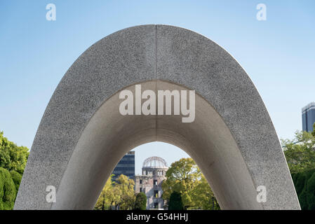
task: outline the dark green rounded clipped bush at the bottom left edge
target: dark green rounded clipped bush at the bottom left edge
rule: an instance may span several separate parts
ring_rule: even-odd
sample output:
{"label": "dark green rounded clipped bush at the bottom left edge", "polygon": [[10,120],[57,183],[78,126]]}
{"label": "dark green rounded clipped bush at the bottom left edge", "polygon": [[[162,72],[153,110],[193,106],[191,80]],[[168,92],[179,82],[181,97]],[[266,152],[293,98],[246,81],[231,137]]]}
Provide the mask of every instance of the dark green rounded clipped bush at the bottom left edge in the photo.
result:
{"label": "dark green rounded clipped bush at the bottom left edge", "polygon": [[15,195],[15,185],[10,172],[0,167],[0,210],[13,209]]}

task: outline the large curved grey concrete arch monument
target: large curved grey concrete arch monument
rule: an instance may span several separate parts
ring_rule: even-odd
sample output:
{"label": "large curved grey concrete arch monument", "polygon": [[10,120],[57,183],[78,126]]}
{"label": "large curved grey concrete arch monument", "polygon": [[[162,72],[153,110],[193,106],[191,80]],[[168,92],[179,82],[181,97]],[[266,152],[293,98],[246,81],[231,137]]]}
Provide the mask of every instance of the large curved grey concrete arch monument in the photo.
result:
{"label": "large curved grey concrete arch monument", "polygon": [[[196,90],[196,119],[121,116],[119,90]],[[165,25],[98,41],[60,81],[39,125],[15,209],[92,209],[130,149],[165,141],[187,151],[222,209],[300,209],[279,139],[246,72],[219,45]],[[58,190],[46,202],[46,186]],[[266,186],[267,202],[256,202]]]}

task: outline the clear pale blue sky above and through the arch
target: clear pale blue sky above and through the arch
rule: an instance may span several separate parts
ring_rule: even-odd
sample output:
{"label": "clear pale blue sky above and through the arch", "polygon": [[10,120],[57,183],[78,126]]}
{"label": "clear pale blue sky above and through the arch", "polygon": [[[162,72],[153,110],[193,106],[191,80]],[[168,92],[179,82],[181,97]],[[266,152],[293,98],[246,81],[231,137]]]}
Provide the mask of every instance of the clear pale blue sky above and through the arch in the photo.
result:
{"label": "clear pale blue sky above and through the arch", "polygon": [[[57,8],[54,22],[46,20],[48,3]],[[266,4],[266,21],[256,20],[257,3]],[[30,148],[43,111],[74,60],[100,38],[145,24],[185,27],[220,44],[252,78],[279,137],[292,138],[302,129],[301,108],[315,101],[313,0],[1,0],[0,130]],[[154,154],[150,148],[162,146],[142,146],[146,153],[138,164]],[[166,159],[178,156],[185,154],[174,149]]]}

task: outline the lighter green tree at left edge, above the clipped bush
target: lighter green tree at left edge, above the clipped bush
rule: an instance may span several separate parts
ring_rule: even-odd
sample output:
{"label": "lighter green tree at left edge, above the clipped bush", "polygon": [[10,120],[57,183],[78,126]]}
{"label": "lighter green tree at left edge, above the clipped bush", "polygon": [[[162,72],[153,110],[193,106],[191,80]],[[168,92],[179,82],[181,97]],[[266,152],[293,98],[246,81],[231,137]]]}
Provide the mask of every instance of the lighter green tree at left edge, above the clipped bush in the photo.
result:
{"label": "lighter green tree at left edge, above the clipped bush", "polygon": [[0,167],[23,174],[28,156],[28,148],[8,141],[4,133],[0,132]]}

